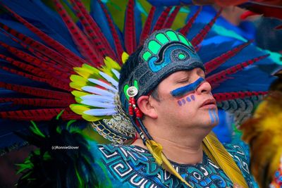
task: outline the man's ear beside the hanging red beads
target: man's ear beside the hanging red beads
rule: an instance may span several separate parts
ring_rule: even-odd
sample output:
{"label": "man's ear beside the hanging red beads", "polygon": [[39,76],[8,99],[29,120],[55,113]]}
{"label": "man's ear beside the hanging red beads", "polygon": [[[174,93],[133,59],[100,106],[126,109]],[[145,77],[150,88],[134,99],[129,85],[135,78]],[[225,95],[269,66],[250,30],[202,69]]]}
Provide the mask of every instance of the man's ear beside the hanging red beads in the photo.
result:
{"label": "man's ear beside the hanging red beads", "polygon": [[156,119],[158,118],[158,114],[154,106],[152,106],[152,101],[149,100],[149,96],[140,96],[137,99],[137,105],[140,111],[150,118]]}

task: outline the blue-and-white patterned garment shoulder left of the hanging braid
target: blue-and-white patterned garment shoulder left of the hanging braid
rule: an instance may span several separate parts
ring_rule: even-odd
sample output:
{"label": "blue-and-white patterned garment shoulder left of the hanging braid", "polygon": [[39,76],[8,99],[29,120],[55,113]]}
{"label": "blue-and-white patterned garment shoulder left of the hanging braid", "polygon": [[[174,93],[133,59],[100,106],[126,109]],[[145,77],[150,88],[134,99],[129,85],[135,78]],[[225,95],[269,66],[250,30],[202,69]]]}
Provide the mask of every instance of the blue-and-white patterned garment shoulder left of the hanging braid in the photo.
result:
{"label": "blue-and-white patterned garment shoulder left of the hanging braid", "polygon": [[161,169],[149,151],[139,146],[98,145],[102,162],[114,180],[130,187],[179,187],[179,182]]}

